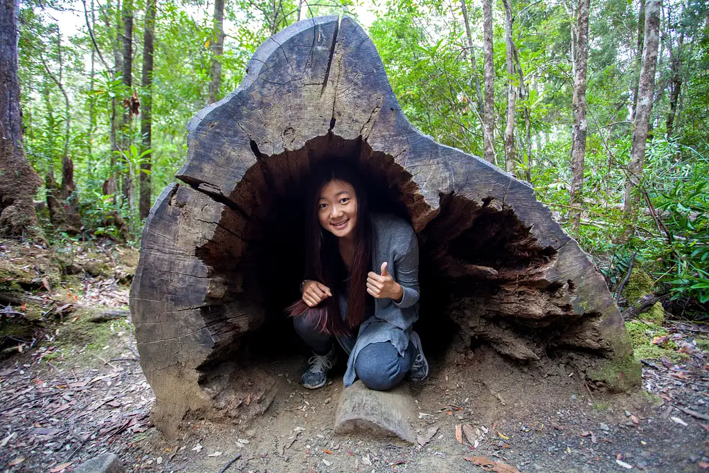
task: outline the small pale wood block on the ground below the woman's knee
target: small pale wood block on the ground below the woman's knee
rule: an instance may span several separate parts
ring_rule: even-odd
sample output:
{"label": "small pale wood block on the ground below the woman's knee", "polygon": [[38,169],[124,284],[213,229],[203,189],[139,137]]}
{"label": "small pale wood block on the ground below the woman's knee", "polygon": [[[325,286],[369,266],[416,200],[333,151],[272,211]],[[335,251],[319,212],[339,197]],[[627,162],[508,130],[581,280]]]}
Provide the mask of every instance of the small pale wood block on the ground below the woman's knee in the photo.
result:
{"label": "small pale wood block on the ground below the woman's knee", "polygon": [[411,428],[415,406],[408,385],[389,391],[374,391],[357,380],[342,390],[335,413],[335,433],[363,430],[381,437],[398,437],[416,443]]}

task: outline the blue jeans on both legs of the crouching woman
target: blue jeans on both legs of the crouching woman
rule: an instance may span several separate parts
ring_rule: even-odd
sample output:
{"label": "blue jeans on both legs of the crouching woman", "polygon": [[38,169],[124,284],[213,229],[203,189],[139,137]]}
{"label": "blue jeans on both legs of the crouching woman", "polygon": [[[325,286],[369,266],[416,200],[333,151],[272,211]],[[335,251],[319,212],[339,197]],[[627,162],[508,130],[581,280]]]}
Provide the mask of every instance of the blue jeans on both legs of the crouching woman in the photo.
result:
{"label": "blue jeans on both legs of the crouching woman", "polygon": [[[306,316],[293,318],[293,326],[303,342],[318,355],[325,355],[333,347],[333,337],[322,333]],[[337,337],[342,349],[350,355],[356,338]],[[354,360],[354,371],[365,386],[376,391],[391,389],[406,376],[416,356],[413,343],[409,343],[403,357],[391,342],[371,343],[362,348]]]}

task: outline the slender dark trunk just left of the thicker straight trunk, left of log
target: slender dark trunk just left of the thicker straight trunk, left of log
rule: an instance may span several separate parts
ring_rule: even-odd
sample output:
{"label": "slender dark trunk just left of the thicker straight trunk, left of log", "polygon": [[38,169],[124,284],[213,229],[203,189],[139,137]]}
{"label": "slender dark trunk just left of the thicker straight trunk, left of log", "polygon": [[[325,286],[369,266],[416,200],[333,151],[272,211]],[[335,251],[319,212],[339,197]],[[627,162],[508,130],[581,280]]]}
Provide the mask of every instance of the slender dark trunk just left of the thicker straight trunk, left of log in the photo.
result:
{"label": "slender dark trunk just left of the thicker straight trunk, left of log", "polygon": [[[121,80],[128,93],[128,96],[123,100],[121,148],[124,155],[127,155],[130,148],[130,135],[132,134],[130,128],[133,121],[133,0],[123,0],[121,17],[123,19],[123,68]],[[130,202],[132,185],[130,172],[124,170],[121,177],[121,194],[123,194],[125,201]]]}

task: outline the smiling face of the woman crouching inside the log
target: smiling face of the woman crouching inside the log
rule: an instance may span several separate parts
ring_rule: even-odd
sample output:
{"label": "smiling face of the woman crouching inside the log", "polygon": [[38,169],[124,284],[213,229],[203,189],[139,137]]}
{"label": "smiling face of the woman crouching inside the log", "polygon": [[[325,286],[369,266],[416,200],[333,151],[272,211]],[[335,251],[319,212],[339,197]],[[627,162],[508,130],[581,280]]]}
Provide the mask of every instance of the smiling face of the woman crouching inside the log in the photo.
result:
{"label": "smiling face of the woman crouching inside the log", "polygon": [[333,179],[320,189],[318,220],[337,238],[352,236],[357,225],[357,195],[352,184]]}

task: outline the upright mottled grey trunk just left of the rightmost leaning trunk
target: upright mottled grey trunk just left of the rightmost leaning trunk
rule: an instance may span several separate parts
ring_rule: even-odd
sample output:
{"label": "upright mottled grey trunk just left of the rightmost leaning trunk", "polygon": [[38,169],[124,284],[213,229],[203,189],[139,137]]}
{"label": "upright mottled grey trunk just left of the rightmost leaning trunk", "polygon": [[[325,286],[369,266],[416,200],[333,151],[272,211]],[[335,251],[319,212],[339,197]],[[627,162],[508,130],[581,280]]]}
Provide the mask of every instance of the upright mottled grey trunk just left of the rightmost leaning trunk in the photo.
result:
{"label": "upright mottled grey trunk just left of the rightmost leaning trunk", "polygon": [[[574,99],[571,111],[574,113],[574,128],[571,130],[571,207],[581,205],[581,191],[584,189],[584,157],[586,155],[586,64],[588,62],[588,9],[590,0],[579,0],[576,12],[576,77],[574,77]],[[571,209],[571,225],[574,233],[579,232],[581,209]]]}

